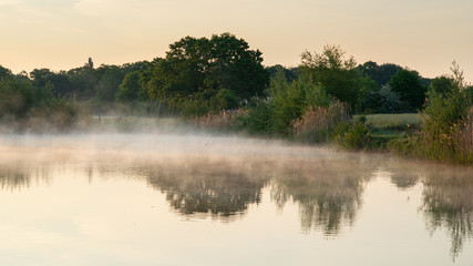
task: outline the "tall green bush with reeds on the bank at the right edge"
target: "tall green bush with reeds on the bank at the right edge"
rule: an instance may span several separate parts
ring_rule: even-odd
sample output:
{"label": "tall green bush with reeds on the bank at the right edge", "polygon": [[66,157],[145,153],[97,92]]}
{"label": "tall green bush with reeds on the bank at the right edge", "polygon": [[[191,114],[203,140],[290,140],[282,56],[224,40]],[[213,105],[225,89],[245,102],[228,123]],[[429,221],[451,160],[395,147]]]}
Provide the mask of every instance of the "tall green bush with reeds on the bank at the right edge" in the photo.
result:
{"label": "tall green bush with reeds on the bank at the right edge", "polygon": [[473,164],[473,109],[463,72],[455,62],[451,70],[450,90],[432,89],[428,93],[421,132],[394,147],[430,160]]}

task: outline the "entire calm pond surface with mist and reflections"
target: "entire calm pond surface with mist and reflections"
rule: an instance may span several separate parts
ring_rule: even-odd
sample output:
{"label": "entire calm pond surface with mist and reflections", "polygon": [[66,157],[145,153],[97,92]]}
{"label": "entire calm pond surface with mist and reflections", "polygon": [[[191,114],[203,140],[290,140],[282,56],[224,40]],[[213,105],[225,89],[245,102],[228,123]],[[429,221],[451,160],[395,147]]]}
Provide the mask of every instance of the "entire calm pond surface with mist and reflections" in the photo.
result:
{"label": "entire calm pond surface with mist and reflections", "polygon": [[275,141],[0,136],[0,265],[473,265],[473,171]]}

